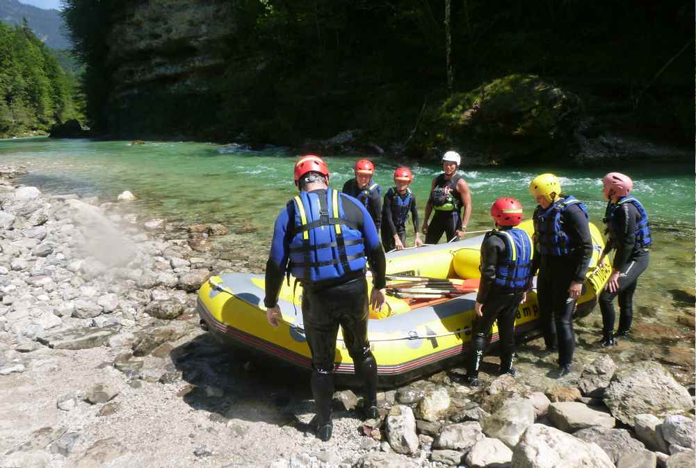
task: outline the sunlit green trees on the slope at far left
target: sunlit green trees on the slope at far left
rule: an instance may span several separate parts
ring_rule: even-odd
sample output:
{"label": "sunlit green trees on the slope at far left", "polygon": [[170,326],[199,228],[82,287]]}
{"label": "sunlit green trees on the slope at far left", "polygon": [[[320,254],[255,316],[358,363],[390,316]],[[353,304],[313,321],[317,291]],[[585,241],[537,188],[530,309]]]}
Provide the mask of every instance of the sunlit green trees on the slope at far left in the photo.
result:
{"label": "sunlit green trees on the slope at far left", "polygon": [[79,116],[74,83],[26,22],[0,23],[0,136],[48,130]]}

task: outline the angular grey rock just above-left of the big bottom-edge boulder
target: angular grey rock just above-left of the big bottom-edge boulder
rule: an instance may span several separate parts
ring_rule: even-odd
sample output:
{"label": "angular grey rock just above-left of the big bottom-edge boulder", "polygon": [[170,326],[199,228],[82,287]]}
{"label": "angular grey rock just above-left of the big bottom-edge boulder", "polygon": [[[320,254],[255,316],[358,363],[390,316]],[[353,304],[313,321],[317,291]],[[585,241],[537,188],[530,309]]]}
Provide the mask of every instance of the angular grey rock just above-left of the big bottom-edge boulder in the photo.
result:
{"label": "angular grey rock just above-left of the big bottom-edge boulder", "polygon": [[535,411],[531,400],[510,400],[495,413],[481,420],[483,433],[500,439],[510,448],[519,442],[522,433],[534,424]]}

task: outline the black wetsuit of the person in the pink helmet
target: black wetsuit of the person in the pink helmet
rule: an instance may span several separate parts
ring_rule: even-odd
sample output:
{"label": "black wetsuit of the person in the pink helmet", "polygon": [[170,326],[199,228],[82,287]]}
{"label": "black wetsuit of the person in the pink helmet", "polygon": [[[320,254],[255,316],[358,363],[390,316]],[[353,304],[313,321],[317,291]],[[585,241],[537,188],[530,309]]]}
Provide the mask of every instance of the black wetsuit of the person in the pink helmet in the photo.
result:
{"label": "black wetsuit of the person in the pink helmet", "polygon": [[[635,226],[640,220],[640,213],[631,203],[624,203],[614,214],[614,223],[609,224],[609,240],[603,253],[616,249],[613,270],[619,274],[619,289],[609,292],[605,289],[599,295],[599,308],[602,311],[603,333],[613,333],[616,313],[613,300],[619,297],[618,334],[626,334],[633,321],[633,293],[638,284],[638,276],[645,271],[649,263],[647,249],[636,242]],[[613,226],[613,227],[612,227]]]}

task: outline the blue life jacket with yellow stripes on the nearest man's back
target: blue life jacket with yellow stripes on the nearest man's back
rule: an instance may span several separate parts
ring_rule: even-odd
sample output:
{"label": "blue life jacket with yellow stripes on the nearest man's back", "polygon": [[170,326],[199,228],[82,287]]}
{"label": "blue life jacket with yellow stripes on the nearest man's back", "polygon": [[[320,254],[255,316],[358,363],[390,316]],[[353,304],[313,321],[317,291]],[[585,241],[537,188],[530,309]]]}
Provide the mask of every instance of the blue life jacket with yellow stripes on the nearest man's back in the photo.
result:
{"label": "blue life jacket with yellow stripes on the nearest man's back", "polygon": [[294,198],[294,235],[290,241],[290,272],[301,283],[338,279],[365,268],[363,235],[345,219],[338,190],[326,196],[300,192]]}

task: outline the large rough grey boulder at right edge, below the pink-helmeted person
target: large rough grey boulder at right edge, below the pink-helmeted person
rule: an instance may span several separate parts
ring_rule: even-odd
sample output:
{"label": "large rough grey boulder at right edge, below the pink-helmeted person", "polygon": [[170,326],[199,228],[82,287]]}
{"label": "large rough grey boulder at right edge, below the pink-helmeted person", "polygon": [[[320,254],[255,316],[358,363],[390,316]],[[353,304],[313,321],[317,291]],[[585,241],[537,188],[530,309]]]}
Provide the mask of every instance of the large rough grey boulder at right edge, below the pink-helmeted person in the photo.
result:
{"label": "large rough grey boulder at right edge, below the pink-helmeted person", "polygon": [[652,361],[628,364],[618,370],[604,391],[604,403],[616,419],[629,425],[637,414],[664,417],[693,408],[689,392],[663,366]]}

